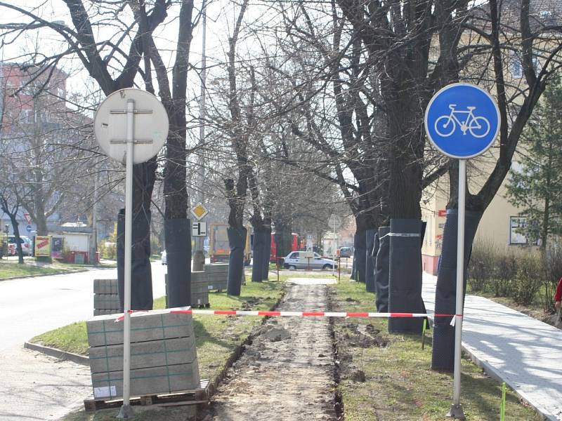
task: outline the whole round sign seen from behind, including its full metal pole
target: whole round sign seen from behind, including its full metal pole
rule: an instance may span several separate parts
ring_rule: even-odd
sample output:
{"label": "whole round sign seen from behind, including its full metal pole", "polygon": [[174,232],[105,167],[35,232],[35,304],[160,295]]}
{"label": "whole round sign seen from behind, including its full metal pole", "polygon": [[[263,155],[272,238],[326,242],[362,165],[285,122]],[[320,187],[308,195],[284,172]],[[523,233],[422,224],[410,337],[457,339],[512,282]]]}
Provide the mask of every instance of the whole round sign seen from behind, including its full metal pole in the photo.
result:
{"label": "whole round sign seen from behind, including its full metal pole", "polygon": [[[136,107],[139,108],[136,108]],[[141,109],[141,107],[143,107]],[[150,118],[136,119],[136,114]],[[126,116],[126,119],[123,119]],[[131,392],[131,248],[133,232],[133,163],[155,156],[168,136],[166,109],[152,94],[140,89],[122,89],[109,95],[98,107],[93,120],[94,135],[101,149],[125,163],[125,267],[123,323],[123,405],[119,418],[133,417]],[[148,138],[135,138],[135,133]]]}

